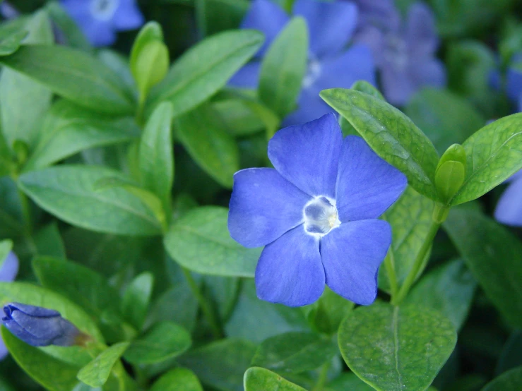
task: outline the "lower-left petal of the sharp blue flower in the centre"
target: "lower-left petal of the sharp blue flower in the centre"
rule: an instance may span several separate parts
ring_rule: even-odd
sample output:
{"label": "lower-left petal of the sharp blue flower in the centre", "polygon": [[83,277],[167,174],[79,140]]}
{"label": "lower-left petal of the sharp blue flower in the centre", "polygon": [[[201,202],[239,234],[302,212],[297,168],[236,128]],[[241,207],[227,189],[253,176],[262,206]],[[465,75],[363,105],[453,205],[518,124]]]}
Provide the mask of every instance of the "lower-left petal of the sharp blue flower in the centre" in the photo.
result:
{"label": "lower-left petal of the sharp blue flower in the centre", "polygon": [[256,267],[256,291],[261,300],[286,306],[306,306],[323,293],[324,269],[319,240],[296,227],[268,244]]}

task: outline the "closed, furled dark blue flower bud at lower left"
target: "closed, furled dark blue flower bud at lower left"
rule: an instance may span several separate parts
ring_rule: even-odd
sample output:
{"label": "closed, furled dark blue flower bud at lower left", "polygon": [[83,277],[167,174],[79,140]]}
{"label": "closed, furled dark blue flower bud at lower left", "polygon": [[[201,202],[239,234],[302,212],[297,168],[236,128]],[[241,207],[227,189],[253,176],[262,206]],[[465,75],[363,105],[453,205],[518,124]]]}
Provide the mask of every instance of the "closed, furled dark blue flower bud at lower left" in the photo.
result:
{"label": "closed, furled dark blue flower bud at lower left", "polygon": [[28,304],[8,303],[4,306],[4,313],[4,326],[33,347],[69,347],[76,344],[81,336],[76,326],[61,318],[58,311]]}

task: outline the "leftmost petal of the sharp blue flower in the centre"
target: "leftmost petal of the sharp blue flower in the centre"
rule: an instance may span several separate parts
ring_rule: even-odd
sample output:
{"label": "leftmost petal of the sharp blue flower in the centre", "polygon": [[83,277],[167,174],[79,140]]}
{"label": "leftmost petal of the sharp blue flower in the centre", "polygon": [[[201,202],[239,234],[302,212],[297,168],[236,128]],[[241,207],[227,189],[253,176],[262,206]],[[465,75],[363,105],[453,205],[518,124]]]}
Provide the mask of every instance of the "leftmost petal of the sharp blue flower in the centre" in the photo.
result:
{"label": "leftmost petal of the sharp blue flower in the centre", "polygon": [[245,247],[265,246],[302,224],[309,196],[275,169],[243,169],[234,174],[228,230]]}

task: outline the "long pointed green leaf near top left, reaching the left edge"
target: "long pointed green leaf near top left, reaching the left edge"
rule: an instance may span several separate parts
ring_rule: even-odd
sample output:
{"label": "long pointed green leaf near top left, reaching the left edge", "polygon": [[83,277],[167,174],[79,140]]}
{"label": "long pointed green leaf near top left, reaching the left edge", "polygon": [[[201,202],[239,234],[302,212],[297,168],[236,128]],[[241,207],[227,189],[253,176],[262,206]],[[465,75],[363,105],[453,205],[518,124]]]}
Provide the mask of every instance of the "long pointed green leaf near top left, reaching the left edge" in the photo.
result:
{"label": "long pointed green leaf near top left, reaching the left edge", "polygon": [[117,73],[93,56],[64,46],[23,46],[0,58],[76,104],[108,114],[132,114],[134,102]]}

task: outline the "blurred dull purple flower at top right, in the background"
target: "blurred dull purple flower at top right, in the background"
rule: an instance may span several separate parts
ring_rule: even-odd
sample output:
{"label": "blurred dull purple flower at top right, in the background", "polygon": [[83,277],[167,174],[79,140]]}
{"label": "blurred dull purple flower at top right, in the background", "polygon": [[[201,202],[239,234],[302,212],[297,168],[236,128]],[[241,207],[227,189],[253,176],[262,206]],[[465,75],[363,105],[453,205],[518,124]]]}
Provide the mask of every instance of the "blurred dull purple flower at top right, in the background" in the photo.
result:
{"label": "blurred dull purple flower at top right, in the background", "polygon": [[400,106],[408,103],[411,95],[425,85],[444,86],[446,70],[435,57],[439,39],[434,15],[428,6],[422,3],[410,6],[402,26],[397,22],[397,12],[388,10],[388,13],[387,25],[363,25],[355,41],[372,48],[384,95],[389,102]]}

